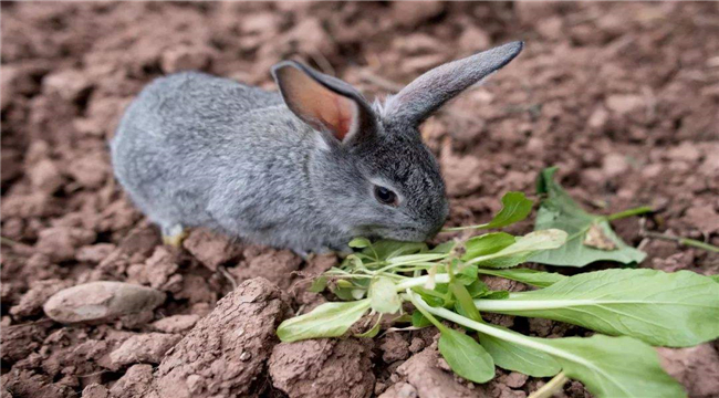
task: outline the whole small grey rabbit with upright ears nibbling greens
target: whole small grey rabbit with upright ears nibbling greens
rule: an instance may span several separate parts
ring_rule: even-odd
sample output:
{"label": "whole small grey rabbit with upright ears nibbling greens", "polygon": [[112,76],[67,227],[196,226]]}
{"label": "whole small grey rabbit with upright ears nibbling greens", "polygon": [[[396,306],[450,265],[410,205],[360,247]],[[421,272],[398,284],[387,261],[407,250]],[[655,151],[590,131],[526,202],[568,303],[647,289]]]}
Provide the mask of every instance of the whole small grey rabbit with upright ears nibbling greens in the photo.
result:
{"label": "whole small grey rabbit with upright ears nibbling greens", "polygon": [[272,67],[280,93],[197,72],[160,77],[119,123],[115,176],[169,244],[199,226],[298,253],[346,250],[357,235],[424,241],[448,201],[420,123],[521,50],[440,65],[374,104],[292,61]]}

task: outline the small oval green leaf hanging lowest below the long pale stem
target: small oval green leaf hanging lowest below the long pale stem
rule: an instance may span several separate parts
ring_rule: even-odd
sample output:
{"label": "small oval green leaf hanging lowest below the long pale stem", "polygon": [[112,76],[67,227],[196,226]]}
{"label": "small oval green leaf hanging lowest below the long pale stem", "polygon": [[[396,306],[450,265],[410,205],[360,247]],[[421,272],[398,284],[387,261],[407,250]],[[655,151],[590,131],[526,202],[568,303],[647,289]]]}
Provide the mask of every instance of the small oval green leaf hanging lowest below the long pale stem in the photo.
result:
{"label": "small oval green leaf hanging lowest below the long pale stem", "polygon": [[439,336],[439,352],[449,367],[459,376],[487,383],[494,378],[492,357],[472,337],[451,328],[445,328]]}

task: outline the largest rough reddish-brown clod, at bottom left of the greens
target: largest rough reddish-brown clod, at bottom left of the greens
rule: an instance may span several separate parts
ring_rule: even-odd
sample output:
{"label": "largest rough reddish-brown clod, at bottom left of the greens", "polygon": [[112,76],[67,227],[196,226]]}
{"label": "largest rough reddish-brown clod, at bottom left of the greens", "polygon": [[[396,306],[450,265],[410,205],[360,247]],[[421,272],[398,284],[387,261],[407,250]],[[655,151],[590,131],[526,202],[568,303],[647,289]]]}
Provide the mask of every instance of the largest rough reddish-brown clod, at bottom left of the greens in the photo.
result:
{"label": "largest rough reddish-brown clod, at bottom left of the greens", "polygon": [[289,310],[269,281],[240,284],[170,349],[156,373],[160,397],[260,395],[274,331]]}

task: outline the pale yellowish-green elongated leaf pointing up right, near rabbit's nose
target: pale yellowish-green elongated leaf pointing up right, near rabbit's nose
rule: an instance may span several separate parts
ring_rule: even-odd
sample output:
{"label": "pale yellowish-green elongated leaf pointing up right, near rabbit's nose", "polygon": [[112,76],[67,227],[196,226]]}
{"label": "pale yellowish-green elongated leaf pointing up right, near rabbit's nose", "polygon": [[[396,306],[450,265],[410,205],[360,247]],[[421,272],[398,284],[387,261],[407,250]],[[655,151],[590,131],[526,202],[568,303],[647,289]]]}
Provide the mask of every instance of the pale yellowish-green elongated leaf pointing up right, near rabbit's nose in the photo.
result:
{"label": "pale yellowish-green elongated leaf pointing up right, near rabbit's nose", "polygon": [[468,263],[484,268],[510,268],[543,250],[556,249],[566,241],[566,232],[558,229],[534,231],[517,238],[515,242],[496,253],[480,255]]}

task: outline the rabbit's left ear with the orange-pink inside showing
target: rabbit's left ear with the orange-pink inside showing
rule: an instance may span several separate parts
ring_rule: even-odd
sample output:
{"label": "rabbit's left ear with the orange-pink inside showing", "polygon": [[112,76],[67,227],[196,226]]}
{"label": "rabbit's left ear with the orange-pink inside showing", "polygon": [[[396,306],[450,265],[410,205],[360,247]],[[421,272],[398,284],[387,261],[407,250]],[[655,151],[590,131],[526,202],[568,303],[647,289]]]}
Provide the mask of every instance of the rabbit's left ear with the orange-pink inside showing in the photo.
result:
{"label": "rabbit's left ear with the orange-pink inside showing", "polygon": [[356,144],[376,132],[372,107],[350,84],[294,61],[272,66],[272,75],[295,115],[343,145]]}

